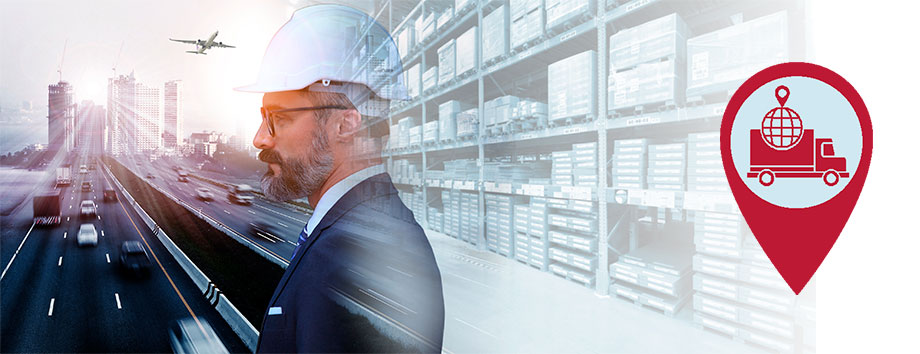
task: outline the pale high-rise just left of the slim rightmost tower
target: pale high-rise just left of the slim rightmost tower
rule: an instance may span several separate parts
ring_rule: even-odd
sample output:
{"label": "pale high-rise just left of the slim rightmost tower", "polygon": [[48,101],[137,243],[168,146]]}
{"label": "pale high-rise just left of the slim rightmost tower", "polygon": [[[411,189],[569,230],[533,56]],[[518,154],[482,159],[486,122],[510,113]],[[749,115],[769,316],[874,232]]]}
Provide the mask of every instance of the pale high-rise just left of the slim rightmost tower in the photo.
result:
{"label": "pale high-rise just left of the slim rightmost tower", "polygon": [[134,129],[134,153],[151,153],[160,149],[163,136],[160,89],[137,83],[135,93],[137,120]]}

